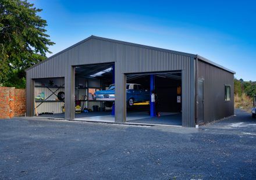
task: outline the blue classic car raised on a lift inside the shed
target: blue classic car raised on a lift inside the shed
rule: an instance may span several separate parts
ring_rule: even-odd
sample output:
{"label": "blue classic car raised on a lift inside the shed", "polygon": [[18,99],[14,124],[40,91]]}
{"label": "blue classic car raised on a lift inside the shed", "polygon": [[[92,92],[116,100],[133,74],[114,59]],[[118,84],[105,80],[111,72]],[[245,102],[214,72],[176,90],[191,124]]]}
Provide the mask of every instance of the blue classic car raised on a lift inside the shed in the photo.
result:
{"label": "blue classic car raised on a lift inside the shed", "polygon": [[[108,90],[96,91],[95,99],[105,102],[115,101],[115,84],[111,84]],[[126,84],[126,102],[133,106],[134,103],[150,100],[150,92],[140,84]]]}

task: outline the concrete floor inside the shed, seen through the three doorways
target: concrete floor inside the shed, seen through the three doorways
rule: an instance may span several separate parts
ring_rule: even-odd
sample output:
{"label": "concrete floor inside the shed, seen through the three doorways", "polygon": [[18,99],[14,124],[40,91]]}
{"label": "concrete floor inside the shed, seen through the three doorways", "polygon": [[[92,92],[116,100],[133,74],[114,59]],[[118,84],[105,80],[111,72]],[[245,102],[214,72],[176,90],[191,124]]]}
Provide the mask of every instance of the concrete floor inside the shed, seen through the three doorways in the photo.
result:
{"label": "concrete floor inside the shed, seen through the three doorways", "polygon": [[[40,117],[64,118],[65,115],[42,114]],[[111,111],[76,113],[74,120],[115,123],[115,117],[111,115]],[[160,117],[150,117],[147,111],[128,111],[126,121],[127,123],[182,125],[182,114],[163,112]]]}

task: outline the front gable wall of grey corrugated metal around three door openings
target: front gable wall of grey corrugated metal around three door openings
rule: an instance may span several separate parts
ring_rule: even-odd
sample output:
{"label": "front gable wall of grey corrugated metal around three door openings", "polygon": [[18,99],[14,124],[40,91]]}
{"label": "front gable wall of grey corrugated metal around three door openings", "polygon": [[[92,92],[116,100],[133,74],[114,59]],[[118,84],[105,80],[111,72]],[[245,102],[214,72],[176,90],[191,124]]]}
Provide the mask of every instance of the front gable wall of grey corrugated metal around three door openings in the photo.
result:
{"label": "front gable wall of grey corrugated metal around three door openings", "polygon": [[66,51],[27,70],[27,111],[34,113],[31,85],[34,78],[65,77],[65,118],[74,118],[74,66],[115,62],[115,121],[126,121],[126,73],[182,70],[182,122],[194,127],[194,57],[186,53],[164,51],[134,44],[122,44],[104,38],[88,38]]}

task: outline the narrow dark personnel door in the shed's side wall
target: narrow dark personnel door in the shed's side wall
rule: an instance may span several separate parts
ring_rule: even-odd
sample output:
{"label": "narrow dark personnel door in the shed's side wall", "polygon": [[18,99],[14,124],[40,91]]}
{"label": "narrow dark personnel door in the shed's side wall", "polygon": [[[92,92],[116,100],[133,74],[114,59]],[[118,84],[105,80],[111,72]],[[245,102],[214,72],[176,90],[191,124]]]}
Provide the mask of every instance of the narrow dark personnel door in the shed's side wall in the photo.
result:
{"label": "narrow dark personnel door in the shed's side wall", "polygon": [[204,123],[204,80],[198,80],[197,88],[197,123]]}

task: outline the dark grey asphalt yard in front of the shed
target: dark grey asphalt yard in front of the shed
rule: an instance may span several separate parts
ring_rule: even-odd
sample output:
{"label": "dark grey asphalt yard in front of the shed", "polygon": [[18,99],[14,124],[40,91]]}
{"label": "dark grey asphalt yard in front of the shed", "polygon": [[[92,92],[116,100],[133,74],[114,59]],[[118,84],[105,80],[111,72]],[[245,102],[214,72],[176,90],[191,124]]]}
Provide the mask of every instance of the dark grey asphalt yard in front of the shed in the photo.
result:
{"label": "dark grey asphalt yard in front of the shed", "polygon": [[199,129],[0,120],[0,179],[255,179],[256,120]]}

